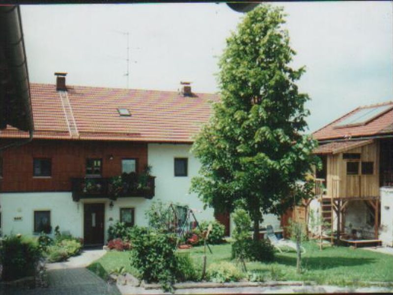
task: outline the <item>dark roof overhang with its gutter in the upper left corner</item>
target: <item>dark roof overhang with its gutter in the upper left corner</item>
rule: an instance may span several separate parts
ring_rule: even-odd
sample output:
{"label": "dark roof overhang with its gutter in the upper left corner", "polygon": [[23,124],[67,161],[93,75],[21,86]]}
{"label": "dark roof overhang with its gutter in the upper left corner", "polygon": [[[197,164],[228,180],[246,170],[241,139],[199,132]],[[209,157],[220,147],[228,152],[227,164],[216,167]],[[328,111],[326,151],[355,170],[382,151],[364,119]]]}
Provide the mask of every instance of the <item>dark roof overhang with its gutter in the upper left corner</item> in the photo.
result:
{"label": "dark roof overhang with its gutter in the upper left corner", "polygon": [[30,142],[33,138],[34,124],[31,110],[26,49],[19,5],[0,7],[0,28],[0,41],[4,49],[6,74],[9,77],[3,82],[3,86],[4,88],[11,87],[8,93],[2,94],[5,114],[10,114],[10,117],[6,118],[5,125],[9,124],[29,132],[29,138],[27,140],[18,140],[2,146],[0,147],[1,151]]}

